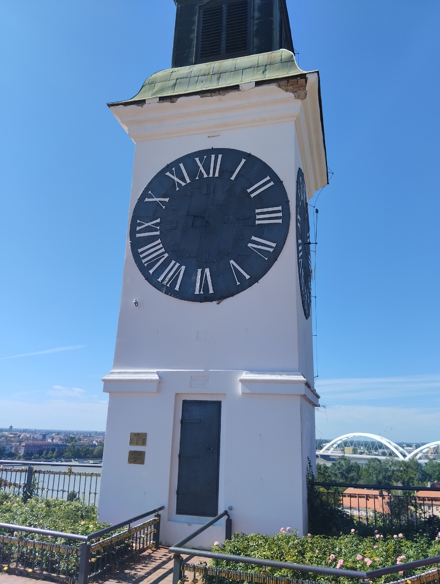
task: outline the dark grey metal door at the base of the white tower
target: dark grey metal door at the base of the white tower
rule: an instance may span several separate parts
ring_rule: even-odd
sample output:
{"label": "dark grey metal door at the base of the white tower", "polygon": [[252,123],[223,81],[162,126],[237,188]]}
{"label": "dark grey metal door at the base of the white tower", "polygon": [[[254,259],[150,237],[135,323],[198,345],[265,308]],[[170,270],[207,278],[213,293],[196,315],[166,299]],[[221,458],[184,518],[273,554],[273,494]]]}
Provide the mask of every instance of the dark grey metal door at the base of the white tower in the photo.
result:
{"label": "dark grey metal door at the base of the white tower", "polygon": [[184,399],[177,515],[215,517],[219,506],[221,401]]}

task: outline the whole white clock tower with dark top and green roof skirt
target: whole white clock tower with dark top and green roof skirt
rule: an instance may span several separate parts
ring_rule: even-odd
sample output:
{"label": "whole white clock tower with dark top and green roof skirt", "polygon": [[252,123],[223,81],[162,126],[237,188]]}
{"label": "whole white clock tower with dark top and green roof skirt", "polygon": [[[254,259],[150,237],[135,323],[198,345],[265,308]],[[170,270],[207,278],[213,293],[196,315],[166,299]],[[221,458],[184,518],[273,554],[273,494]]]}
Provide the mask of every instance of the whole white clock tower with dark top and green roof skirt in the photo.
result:
{"label": "whole white clock tower with dark top and green roof skirt", "polygon": [[304,533],[319,75],[285,0],[175,3],[172,68],[109,104],[136,150],[99,516],[164,505],[167,544],[228,508],[234,531]]}

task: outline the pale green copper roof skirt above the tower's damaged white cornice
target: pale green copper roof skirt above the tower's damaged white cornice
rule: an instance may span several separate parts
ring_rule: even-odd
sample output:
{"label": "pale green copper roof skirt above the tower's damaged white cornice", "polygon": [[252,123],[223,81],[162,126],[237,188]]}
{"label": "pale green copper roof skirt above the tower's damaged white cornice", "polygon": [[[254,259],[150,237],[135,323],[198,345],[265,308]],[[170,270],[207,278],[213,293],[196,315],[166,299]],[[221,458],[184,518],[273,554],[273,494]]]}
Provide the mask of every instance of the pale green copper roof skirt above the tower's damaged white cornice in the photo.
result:
{"label": "pale green copper roof skirt above the tower's damaged white cornice", "polygon": [[199,91],[213,91],[251,81],[270,81],[304,73],[295,61],[295,55],[285,48],[270,53],[248,55],[224,61],[201,63],[189,67],[164,69],[148,77],[134,98],[119,105],[144,99],[185,95]]}

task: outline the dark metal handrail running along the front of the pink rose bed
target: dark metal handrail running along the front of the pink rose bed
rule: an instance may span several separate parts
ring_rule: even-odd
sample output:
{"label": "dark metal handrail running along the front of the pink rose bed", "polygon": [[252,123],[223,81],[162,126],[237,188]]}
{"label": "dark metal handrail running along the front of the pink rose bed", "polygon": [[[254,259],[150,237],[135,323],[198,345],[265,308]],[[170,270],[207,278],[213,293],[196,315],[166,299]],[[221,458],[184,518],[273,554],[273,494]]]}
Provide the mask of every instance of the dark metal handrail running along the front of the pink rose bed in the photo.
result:
{"label": "dark metal handrail running along the front of the pink rose bed", "polygon": [[432,558],[417,559],[414,562],[407,562],[406,564],[397,564],[394,566],[387,566],[386,568],[377,568],[367,572],[358,570],[346,570],[344,568],[325,568],[325,566],[309,566],[307,564],[292,564],[290,562],[280,562],[274,559],[264,558],[249,558],[244,555],[219,554],[219,552],[210,552],[204,550],[195,550],[193,548],[182,548],[173,545],[169,551],[174,554],[188,554],[191,552],[202,558],[222,559],[230,562],[240,562],[241,564],[254,564],[257,566],[265,566],[266,568],[282,568],[287,570],[298,570],[300,572],[312,572],[317,574],[326,574],[329,576],[345,576],[347,578],[358,578],[363,580],[370,580],[372,578],[379,578],[386,574],[394,572],[401,572],[412,568],[419,568],[431,564],[438,564],[440,556],[436,555]]}

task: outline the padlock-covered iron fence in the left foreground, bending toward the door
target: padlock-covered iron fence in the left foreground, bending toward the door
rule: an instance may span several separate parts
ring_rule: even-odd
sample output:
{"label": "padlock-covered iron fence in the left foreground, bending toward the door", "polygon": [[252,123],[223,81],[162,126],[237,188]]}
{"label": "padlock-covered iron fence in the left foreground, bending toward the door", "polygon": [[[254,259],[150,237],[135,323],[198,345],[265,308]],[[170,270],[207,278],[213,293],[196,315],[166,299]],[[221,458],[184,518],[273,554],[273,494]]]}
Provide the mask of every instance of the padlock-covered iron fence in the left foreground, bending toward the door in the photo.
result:
{"label": "padlock-covered iron fence in the left foreground, bending toward the door", "polygon": [[[70,584],[87,584],[93,576],[117,569],[127,559],[157,548],[159,511],[162,509],[164,507],[158,507],[89,536],[0,523],[1,529],[14,533],[13,536],[0,535],[0,566],[4,572],[13,571],[28,576],[37,573],[51,579],[68,580]],[[131,523],[153,514],[152,519],[130,527]],[[127,524],[124,531],[111,534]],[[22,537],[22,532],[33,533],[40,539]],[[109,537],[102,537],[109,533]],[[52,543],[48,538],[61,538],[61,541]],[[64,543],[65,540],[69,543]]]}

